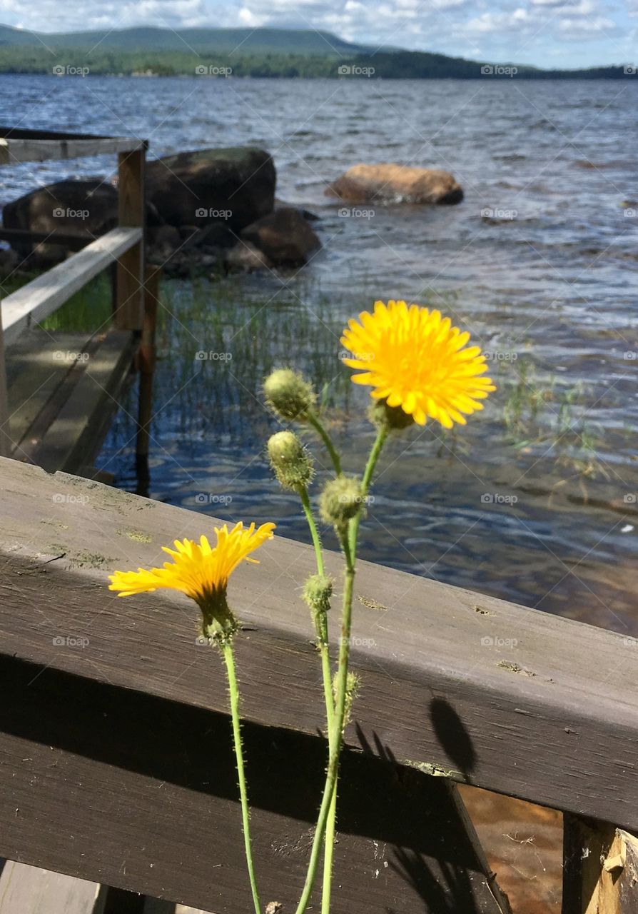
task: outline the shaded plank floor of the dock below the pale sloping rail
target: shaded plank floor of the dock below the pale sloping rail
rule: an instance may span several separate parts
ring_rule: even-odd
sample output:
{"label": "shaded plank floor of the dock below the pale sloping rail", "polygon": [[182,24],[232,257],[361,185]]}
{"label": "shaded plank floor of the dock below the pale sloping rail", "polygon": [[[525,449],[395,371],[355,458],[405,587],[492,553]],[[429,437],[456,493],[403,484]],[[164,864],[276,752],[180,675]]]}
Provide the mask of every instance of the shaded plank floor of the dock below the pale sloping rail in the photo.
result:
{"label": "shaded plank floor of the dock below the pale sloping rail", "polygon": [[132,377],[127,331],[27,330],[6,348],[11,456],[45,470],[92,475]]}

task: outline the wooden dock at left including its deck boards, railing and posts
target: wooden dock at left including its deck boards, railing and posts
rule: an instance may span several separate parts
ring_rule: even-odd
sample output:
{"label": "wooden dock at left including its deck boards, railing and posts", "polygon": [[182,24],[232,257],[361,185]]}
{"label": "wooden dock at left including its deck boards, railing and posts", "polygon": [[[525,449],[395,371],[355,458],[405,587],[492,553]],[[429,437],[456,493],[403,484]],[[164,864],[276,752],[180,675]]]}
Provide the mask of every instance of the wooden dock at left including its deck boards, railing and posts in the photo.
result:
{"label": "wooden dock at left including its deck boards, railing and posts", "polygon": [[[133,366],[144,375],[138,456],[144,460],[148,453],[157,275],[149,277],[144,269],[146,143],[0,128],[0,165],[101,153],[118,154],[118,226],[100,238],[85,239],[81,250],[68,235],[48,234],[45,240],[75,253],[0,302],[0,454],[49,472],[95,473],[93,462]],[[3,229],[2,238],[16,236],[24,242],[25,234]],[[42,233],[32,240],[42,241]],[[84,334],[41,327],[71,295],[113,265],[112,326]]]}

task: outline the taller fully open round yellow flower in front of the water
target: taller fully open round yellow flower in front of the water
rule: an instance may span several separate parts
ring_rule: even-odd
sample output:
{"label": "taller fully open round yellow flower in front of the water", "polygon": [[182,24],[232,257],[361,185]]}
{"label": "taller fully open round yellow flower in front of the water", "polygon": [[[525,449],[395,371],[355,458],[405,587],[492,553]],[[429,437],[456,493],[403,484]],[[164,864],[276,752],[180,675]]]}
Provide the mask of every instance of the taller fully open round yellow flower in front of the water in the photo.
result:
{"label": "taller fully open round yellow flower in front of the water", "polygon": [[495,390],[479,346],[463,348],[470,335],[452,327],[449,317],[418,304],[375,303],[348,322],[341,343],[353,354],[344,359],[356,384],[374,388],[371,395],[400,407],[419,425],[427,418],[451,429],[465,424],[463,413],[483,409],[479,402]]}

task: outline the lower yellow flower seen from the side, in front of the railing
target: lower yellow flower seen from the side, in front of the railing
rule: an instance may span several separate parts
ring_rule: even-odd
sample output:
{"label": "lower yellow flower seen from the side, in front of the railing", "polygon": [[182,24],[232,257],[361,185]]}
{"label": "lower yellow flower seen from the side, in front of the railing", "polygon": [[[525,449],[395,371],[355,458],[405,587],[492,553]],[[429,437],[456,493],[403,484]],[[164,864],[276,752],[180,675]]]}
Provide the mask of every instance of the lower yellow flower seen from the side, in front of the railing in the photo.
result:
{"label": "lower yellow flower seen from the side, in front of the railing", "polygon": [[179,590],[197,602],[205,622],[204,633],[214,621],[227,628],[234,622],[226,602],[226,588],[229,577],[239,563],[254,562],[251,552],[272,538],[274,524],[255,525],[244,529],[239,523],[229,531],[227,525],[220,530],[215,527],[217,545],[211,547],[207,537],[200,537],[197,544],[192,539],[175,539],[175,549],[163,546],[173,561],[165,562],[161,569],[138,569],[137,571],[115,571],[110,575],[109,590],[118,590],[118,597],[130,597],[135,593],[152,592],[160,588]]}

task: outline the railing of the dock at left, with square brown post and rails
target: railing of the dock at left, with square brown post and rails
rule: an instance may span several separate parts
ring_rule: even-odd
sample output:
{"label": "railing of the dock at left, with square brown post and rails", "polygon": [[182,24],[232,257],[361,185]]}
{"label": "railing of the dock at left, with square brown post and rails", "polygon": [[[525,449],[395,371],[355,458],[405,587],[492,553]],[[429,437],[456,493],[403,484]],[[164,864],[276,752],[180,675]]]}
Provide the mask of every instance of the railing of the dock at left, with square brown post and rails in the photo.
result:
{"label": "railing of the dock at left, with square brown post and rails", "polygon": [[[0,165],[86,155],[118,154],[119,225],[0,302],[0,455],[12,449],[6,393],[5,345],[57,311],[98,273],[117,262],[114,324],[141,330],[144,320],[144,166],[147,143],[125,137],[0,128]],[[23,234],[23,233],[18,233]],[[3,237],[16,235],[3,232]],[[58,233],[39,241],[55,244]]]}

